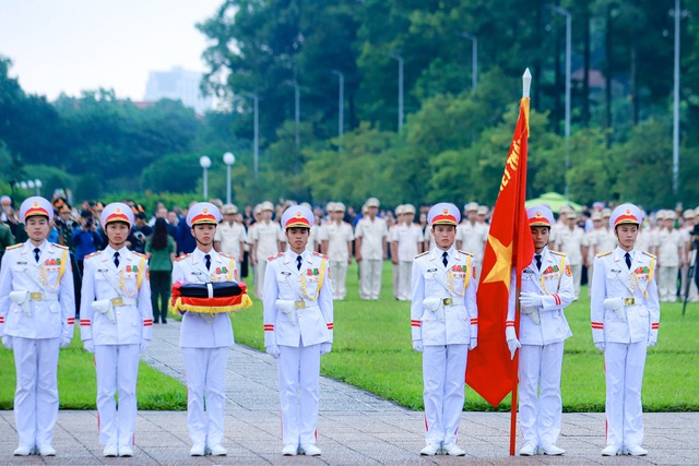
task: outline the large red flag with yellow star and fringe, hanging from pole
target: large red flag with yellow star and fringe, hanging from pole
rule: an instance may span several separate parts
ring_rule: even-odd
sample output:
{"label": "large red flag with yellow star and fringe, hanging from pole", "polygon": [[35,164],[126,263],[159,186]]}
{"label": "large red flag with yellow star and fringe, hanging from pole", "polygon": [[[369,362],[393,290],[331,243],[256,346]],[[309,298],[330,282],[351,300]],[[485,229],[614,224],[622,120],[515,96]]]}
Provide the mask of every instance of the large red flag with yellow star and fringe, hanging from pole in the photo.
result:
{"label": "large red flag with yellow star and fringe, hanging from pole", "polygon": [[505,321],[512,267],[516,267],[519,287],[522,270],[534,254],[524,208],[529,103],[529,97],[520,100],[520,116],[490,219],[476,298],[478,346],[469,351],[466,366],[466,383],[493,406],[499,405],[518,382],[517,359],[510,359],[505,339]]}

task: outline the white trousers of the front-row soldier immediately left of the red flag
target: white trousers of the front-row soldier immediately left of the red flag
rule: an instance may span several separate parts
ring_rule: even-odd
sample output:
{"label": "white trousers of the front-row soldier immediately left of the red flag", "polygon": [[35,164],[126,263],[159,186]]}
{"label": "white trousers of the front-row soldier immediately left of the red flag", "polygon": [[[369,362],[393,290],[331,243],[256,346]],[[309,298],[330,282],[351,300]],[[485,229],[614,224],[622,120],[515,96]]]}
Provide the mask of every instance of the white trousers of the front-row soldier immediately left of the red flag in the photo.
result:
{"label": "white trousers of the front-row soldier immediately left of the red flag", "polygon": [[423,350],[425,443],[455,443],[463,411],[467,345],[429,345]]}

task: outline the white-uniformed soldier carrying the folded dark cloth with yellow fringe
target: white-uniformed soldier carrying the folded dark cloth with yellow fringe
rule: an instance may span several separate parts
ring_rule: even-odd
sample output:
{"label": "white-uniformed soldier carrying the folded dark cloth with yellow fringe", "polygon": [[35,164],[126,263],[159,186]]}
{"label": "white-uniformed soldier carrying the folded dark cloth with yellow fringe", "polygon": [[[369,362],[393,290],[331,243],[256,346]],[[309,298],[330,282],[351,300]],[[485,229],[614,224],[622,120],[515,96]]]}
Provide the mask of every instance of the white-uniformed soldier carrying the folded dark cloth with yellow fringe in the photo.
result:
{"label": "white-uniformed soldier carrying the folded dark cloth with yellow fringe", "polygon": [[[191,254],[178,258],[173,265],[173,283],[232,282],[238,279],[235,260],[213,249],[218,207],[200,202],[187,214],[187,225],[197,240]],[[181,312],[179,345],[185,355],[187,374],[187,425],[191,456],[224,456],[224,414],[226,361],[234,344],[228,313]],[[204,410],[204,398],[205,407]]]}

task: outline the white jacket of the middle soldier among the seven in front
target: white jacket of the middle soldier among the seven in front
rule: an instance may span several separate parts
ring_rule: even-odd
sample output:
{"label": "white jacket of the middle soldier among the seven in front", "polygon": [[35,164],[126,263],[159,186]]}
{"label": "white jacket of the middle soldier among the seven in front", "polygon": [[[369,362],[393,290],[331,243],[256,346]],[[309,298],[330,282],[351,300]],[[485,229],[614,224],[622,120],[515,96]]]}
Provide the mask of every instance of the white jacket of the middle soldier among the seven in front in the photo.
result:
{"label": "white jacket of the middle soldier among the seven in front", "polygon": [[328,256],[291,249],[268,259],[264,274],[264,346],[333,342],[333,301]]}

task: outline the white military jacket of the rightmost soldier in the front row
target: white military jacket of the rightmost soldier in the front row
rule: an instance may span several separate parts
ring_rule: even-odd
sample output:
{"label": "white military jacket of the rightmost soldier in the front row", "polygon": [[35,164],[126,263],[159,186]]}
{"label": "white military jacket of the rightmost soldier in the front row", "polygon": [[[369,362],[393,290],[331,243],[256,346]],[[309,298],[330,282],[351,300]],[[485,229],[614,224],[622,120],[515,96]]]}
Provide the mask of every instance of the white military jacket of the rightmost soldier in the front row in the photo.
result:
{"label": "white military jacket of the rightmost soldier in the front row", "polygon": [[[625,250],[616,248],[597,254],[594,260],[590,297],[594,343],[648,342],[651,336],[657,340],[660,304],[653,279],[655,256],[629,251],[629,271],[625,254]],[[621,302],[615,303],[609,298],[621,298]]]}

